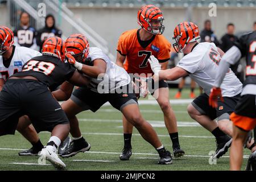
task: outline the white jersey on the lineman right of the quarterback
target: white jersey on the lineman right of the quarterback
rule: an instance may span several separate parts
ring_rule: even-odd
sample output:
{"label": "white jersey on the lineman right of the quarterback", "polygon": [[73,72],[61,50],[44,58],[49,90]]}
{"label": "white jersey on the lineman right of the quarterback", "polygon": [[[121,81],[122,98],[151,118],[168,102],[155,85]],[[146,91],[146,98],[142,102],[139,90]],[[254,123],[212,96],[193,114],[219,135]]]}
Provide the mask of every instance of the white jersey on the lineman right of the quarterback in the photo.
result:
{"label": "white jersey on the lineman right of the quarterback", "polygon": [[[189,76],[209,96],[210,89],[214,85],[219,61],[221,61],[221,56],[215,44],[205,42],[199,43],[191,53],[185,55],[177,67],[189,72]],[[242,92],[242,83],[230,68],[220,87],[224,97],[233,97]]]}

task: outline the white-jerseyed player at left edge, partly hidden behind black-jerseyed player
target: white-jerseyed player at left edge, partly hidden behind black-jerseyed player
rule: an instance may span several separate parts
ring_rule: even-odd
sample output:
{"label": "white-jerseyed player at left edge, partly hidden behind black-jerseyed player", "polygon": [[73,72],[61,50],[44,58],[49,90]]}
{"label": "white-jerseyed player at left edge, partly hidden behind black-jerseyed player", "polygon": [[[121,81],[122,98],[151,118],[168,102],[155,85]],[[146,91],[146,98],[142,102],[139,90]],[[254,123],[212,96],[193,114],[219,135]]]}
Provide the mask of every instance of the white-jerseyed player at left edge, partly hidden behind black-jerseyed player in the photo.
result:
{"label": "white-jerseyed player at left edge, partly hidden behind black-jerseyed player", "polygon": [[[7,79],[22,70],[22,66],[32,57],[41,56],[41,53],[27,47],[16,47],[14,44],[14,34],[10,28],[0,26],[0,91]],[[31,144],[30,150],[19,152],[19,155],[37,155],[42,150],[41,143],[32,125],[27,126],[29,119],[27,116],[20,117],[17,130]]]}

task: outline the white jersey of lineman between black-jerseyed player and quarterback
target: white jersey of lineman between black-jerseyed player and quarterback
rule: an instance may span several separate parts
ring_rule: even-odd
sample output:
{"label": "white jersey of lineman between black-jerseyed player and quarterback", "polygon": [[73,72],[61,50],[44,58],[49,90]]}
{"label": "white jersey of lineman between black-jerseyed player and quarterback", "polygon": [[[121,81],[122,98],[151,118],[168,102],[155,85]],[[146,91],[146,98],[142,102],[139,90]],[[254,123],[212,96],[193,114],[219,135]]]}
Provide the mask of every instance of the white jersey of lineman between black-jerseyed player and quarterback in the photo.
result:
{"label": "white jersey of lineman between black-jerseyed player and quarterback", "polygon": [[103,80],[102,77],[90,77],[91,82],[89,88],[92,91],[99,93],[110,93],[116,88],[120,88],[121,86],[125,86],[130,83],[131,78],[125,69],[113,63],[100,48],[90,47],[88,57],[90,57],[92,61],[102,59],[106,62],[106,73],[102,75],[104,78]]}

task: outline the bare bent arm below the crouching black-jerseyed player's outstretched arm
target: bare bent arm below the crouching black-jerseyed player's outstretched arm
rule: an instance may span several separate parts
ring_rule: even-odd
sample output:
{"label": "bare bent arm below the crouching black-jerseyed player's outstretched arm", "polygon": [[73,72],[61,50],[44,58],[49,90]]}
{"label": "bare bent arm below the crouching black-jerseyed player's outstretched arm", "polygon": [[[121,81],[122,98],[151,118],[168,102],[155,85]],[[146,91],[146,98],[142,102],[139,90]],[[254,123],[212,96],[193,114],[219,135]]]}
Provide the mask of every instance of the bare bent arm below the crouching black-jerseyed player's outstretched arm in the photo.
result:
{"label": "bare bent arm below the crouching black-jerseyed player's outstretched arm", "polygon": [[57,101],[67,101],[73,92],[74,85],[65,81],[60,88],[52,92]]}

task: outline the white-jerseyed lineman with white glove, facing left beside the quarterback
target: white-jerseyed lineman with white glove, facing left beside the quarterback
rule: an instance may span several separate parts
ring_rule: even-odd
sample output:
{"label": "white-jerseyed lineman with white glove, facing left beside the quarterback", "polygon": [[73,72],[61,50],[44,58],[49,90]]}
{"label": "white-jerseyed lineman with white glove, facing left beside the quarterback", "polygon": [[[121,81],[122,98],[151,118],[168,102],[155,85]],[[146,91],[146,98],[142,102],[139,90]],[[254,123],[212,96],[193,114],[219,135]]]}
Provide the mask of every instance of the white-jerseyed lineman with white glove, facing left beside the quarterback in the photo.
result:
{"label": "white-jerseyed lineman with white glove, facing left beside the quarterback", "polygon": [[[216,69],[224,52],[217,48],[214,43],[197,43],[197,40],[200,39],[199,28],[192,22],[178,24],[174,29],[173,39],[175,40],[173,46],[176,52],[183,51],[187,55],[179,61],[175,68],[167,70],[161,70],[158,60],[151,56],[148,61],[156,75],[155,79],[176,80],[189,75],[204,89],[205,93],[188,105],[188,113],[191,118],[216,137],[217,149],[216,155],[213,157],[220,158],[228,151],[232,143],[232,138],[229,137],[233,133],[229,115],[233,112],[240,98],[242,83],[229,69],[221,85],[225,102],[219,101],[218,107],[213,109],[209,105],[208,99],[210,89],[214,84]],[[216,118],[218,122],[214,121]]]}

